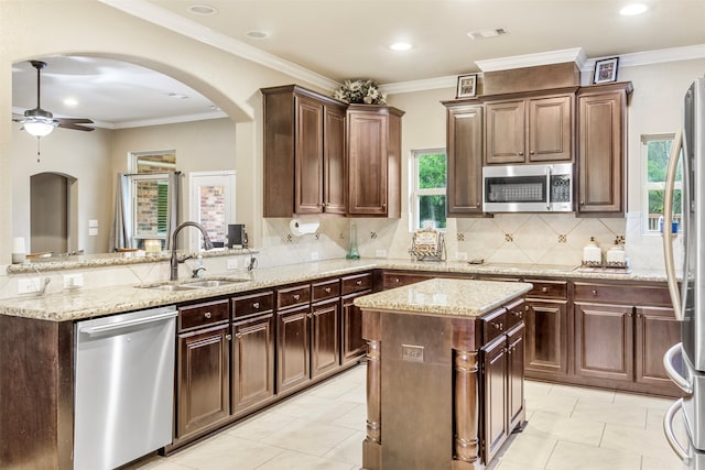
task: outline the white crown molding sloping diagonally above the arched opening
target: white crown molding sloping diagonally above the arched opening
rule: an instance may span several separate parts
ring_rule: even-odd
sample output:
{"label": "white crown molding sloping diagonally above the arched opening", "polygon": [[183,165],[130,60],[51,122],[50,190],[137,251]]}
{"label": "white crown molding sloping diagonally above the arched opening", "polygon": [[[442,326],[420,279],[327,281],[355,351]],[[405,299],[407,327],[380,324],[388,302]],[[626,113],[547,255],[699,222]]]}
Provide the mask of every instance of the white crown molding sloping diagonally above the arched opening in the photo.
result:
{"label": "white crown molding sloping diagonally above the arched opening", "polygon": [[175,33],[191,37],[195,41],[237,55],[238,57],[242,57],[257,64],[264,65],[269,68],[282,72],[286,75],[291,75],[294,78],[305,80],[325,90],[333,91],[340,86],[337,81],[324,77],[321,74],[316,74],[315,72],[312,72],[300,65],[296,65],[293,62],[284,61],[283,58],[280,58],[257,47],[252,47],[251,45],[246,44],[241,41],[234,40],[232,37],[229,37],[225,34],[215,32],[208,28],[204,28],[194,21],[189,21],[177,14],[171,13],[144,0],[98,1],[124,13],[131,14],[144,21],[149,21],[150,23],[171,30]]}

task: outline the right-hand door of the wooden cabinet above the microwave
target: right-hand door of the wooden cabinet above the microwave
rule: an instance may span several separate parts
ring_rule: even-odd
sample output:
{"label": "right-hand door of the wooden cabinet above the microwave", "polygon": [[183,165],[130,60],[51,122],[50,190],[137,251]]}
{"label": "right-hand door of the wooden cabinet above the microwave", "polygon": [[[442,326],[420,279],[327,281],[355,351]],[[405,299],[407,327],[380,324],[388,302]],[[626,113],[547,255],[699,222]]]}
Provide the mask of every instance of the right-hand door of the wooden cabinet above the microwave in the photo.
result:
{"label": "right-hand door of the wooden cabinet above the microwave", "polygon": [[529,100],[529,162],[573,160],[573,96]]}

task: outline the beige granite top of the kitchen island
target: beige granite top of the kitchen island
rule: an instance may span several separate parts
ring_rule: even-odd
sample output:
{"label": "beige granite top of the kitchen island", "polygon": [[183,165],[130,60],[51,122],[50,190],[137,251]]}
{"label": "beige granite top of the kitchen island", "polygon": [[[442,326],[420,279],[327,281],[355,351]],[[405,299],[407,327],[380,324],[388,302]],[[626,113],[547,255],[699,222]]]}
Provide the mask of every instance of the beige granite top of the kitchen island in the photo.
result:
{"label": "beige granite top of the kitchen island", "polygon": [[528,283],[435,278],[355,299],[362,309],[478,317],[525,294]]}

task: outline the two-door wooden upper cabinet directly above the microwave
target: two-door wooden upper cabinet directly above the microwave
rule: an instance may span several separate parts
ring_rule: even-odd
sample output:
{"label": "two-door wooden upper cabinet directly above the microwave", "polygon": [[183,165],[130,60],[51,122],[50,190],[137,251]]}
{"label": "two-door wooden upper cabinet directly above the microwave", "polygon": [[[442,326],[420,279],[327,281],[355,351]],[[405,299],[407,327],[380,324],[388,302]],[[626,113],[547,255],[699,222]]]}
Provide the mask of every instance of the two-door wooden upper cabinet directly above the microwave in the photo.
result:
{"label": "two-door wooden upper cabinet directly above the microwave", "polygon": [[486,99],[488,165],[571,162],[575,92]]}

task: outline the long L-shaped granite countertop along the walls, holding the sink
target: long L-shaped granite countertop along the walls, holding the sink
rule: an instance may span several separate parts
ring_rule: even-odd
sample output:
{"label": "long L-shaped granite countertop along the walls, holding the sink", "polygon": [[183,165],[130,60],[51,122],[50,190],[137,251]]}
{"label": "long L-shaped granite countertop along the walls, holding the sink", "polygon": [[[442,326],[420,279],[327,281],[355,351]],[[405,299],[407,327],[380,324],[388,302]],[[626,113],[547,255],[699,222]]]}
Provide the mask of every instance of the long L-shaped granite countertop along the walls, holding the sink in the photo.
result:
{"label": "long L-shaped granite countertop along the walls, holding the sink", "polygon": [[[582,273],[575,271],[575,266],[519,264],[473,265],[467,262],[414,262],[410,260],[381,259],[327,260],[258,269],[248,274],[224,273],[218,275],[218,273],[214,273],[215,277],[237,278],[240,281],[220,287],[170,292],[142,288],[139,285],[116,285],[100,288],[69,289],[43,296],[25,295],[4,298],[0,299],[0,315],[52,321],[68,321],[260,288],[271,288],[276,285],[352,274],[372,269],[596,281],[665,282],[665,274],[663,272],[652,271]],[[183,282],[186,281],[193,280],[183,280]]]}

